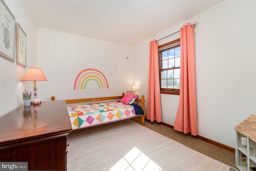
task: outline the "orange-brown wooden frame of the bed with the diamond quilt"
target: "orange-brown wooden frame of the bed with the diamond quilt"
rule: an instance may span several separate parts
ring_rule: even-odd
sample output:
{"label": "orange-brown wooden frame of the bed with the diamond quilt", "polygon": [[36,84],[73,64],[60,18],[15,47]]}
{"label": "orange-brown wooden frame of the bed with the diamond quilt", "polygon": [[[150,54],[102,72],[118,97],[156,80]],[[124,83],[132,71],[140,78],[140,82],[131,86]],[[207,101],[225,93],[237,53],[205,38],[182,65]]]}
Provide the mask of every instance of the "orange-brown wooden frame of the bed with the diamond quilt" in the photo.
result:
{"label": "orange-brown wooden frame of the bed with the diamond quilt", "polygon": [[[122,99],[122,97],[124,97],[124,93],[122,93],[121,96],[112,96],[112,97],[96,97],[96,98],[87,98],[87,99],[68,99],[68,100],[66,100],[66,104],[115,100],[115,99]],[[52,99],[52,101],[55,101],[54,96],[52,96],[51,99]],[[137,115],[137,116],[134,116],[134,117],[141,117],[141,125],[144,125],[144,123],[145,123],[145,99],[144,99],[144,95],[141,96],[141,99],[136,98],[134,103],[139,105],[142,108],[143,112],[144,112],[144,115]],[[130,118],[133,118],[133,117],[130,117]]]}

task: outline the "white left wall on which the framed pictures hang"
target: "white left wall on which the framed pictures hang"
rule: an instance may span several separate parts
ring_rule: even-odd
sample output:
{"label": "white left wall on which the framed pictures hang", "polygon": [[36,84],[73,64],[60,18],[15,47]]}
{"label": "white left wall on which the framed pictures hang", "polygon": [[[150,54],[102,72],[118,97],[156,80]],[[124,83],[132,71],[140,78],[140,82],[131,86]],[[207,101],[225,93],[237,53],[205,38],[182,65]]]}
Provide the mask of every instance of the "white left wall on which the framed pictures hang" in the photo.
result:
{"label": "white left wall on which the framed pictures hang", "polygon": [[[36,66],[36,24],[24,0],[5,0],[6,5],[27,34],[27,68]],[[21,82],[27,68],[0,56],[0,117],[23,105],[23,88],[32,91],[33,83]]]}

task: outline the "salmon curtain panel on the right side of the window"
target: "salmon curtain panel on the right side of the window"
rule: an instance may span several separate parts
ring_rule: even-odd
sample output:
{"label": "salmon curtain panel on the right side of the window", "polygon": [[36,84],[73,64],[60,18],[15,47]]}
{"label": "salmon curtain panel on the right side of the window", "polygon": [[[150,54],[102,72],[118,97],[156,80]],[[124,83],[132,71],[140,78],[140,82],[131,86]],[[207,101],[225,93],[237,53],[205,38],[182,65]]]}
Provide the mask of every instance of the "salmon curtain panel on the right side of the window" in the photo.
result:
{"label": "salmon curtain panel on the right side of the window", "polygon": [[180,103],[174,129],[183,133],[198,133],[196,113],[196,64],[194,26],[180,28]]}

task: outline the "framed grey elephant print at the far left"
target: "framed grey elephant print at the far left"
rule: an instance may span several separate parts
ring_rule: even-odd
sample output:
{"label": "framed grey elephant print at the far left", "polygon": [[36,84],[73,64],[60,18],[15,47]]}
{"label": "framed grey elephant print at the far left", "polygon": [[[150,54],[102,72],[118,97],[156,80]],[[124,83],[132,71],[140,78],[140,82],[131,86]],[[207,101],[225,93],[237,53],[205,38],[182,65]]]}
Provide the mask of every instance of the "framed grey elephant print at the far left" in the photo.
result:
{"label": "framed grey elephant print at the far left", "polygon": [[15,17],[0,0],[0,56],[15,61]]}

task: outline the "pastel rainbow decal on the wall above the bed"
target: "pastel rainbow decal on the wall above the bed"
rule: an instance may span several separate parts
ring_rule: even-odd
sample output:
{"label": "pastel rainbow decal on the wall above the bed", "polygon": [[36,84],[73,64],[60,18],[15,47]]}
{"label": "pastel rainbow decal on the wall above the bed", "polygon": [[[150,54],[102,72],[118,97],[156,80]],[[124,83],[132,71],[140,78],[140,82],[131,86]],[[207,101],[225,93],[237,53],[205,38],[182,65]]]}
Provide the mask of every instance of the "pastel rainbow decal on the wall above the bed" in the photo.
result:
{"label": "pastel rainbow decal on the wall above the bed", "polygon": [[90,81],[95,81],[99,89],[108,88],[108,80],[102,72],[96,69],[88,68],[82,70],[77,76],[74,83],[74,89],[86,89]]}

